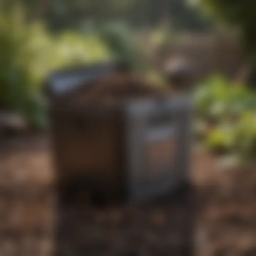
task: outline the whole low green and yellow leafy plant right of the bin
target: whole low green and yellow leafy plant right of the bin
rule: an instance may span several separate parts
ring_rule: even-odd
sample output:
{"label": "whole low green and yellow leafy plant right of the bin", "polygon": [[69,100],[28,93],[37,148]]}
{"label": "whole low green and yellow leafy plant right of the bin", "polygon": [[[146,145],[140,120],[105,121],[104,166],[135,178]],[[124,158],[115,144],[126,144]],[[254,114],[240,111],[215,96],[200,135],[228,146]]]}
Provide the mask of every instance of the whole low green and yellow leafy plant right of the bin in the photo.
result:
{"label": "whole low green and yellow leafy plant right of the bin", "polygon": [[255,158],[255,91],[214,76],[198,87],[195,103],[199,123],[208,127],[203,130],[203,138],[210,151]]}

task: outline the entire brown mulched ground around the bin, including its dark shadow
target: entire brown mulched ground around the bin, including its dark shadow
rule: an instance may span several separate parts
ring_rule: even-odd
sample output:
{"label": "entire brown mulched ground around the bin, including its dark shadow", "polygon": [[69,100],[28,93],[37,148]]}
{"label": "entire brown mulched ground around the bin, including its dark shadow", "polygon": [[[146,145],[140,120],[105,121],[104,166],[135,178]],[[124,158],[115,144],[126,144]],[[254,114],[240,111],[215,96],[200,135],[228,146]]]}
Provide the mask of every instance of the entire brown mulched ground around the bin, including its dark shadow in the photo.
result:
{"label": "entire brown mulched ground around the bin, including its dark shadow", "polygon": [[223,170],[194,153],[191,180],[144,205],[56,212],[47,135],[1,143],[0,255],[178,256],[191,245],[196,256],[256,255],[254,168]]}

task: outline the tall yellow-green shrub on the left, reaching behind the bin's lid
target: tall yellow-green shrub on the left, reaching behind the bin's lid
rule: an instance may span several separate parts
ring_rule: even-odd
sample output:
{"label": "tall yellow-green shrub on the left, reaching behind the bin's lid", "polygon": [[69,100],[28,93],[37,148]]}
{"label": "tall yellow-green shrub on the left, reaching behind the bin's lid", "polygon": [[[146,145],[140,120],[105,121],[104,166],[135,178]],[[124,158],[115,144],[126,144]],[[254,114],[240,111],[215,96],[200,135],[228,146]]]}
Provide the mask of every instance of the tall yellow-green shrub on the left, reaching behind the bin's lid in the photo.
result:
{"label": "tall yellow-green shrub on the left, reaching behind the bin's lid", "polygon": [[0,109],[20,113],[34,126],[45,125],[41,85],[54,68],[110,57],[96,36],[47,33],[42,23],[28,23],[25,10],[0,11]]}

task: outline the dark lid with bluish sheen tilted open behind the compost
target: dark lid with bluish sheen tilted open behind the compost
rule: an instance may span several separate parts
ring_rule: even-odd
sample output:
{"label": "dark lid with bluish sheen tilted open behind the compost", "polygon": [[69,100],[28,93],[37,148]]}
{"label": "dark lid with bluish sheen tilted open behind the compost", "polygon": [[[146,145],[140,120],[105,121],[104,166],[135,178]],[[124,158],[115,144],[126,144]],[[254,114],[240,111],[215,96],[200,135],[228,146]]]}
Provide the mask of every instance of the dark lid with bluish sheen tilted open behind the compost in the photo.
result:
{"label": "dark lid with bluish sheen tilted open behind the compost", "polygon": [[104,62],[53,71],[46,81],[46,94],[50,97],[66,95],[120,69],[128,70],[128,67],[121,62]]}

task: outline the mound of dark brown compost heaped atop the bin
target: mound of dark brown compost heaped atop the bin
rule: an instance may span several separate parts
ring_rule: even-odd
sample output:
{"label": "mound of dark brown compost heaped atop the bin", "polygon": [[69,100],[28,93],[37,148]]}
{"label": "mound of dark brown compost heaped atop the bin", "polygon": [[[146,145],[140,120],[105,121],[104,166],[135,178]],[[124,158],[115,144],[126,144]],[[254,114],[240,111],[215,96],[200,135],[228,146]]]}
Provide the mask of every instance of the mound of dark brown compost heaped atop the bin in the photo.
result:
{"label": "mound of dark brown compost heaped atop the bin", "polygon": [[129,100],[141,98],[166,98],[167,87],[151,85],[131,74],[110,74],[91,85],[81,85],[69,95],[72,105],[118,107]]}

